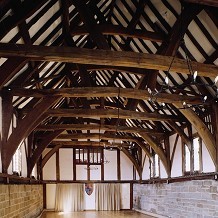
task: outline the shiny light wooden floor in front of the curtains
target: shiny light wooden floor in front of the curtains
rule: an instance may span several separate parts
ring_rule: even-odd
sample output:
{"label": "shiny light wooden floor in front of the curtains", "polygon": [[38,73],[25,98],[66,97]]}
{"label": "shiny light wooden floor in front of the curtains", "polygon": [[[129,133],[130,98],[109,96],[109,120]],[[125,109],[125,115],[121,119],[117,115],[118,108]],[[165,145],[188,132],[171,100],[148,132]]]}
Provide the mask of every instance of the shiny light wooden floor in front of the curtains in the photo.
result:
{"label": "shiny light wooden floor in front of the curtains", "polygon": [[44,212],[40,218],[151,218],[145,214],[134,211],[86,211],[86,212],[73,212],[73,213],[55,213]]}

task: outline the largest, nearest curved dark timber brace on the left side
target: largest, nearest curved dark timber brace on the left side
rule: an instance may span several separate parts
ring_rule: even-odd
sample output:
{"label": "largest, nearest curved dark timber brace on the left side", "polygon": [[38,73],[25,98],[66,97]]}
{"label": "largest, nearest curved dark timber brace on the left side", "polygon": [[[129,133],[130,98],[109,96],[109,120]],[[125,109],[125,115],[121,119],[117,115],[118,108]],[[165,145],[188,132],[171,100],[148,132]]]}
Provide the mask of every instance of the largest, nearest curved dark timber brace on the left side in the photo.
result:
{"label": "largest, nearest curved dark timber brace on the left side", "polygon": [[42,120],[46,118],[45,112],[59,100],[59,97],[45,97],[35,108],[33,108],[11,133],[7,143],[2,146],[2,170],[7,172],[13,154],[19,144],[24,140]]}

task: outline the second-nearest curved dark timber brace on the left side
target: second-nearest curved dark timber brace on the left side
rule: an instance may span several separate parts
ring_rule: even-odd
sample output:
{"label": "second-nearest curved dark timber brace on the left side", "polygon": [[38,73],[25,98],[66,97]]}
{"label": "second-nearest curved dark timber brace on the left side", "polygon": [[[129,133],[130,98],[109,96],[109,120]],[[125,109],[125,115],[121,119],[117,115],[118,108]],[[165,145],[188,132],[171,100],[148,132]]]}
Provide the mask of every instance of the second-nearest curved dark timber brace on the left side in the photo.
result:
{"label": "second-nearest curved dark timber brace on the left side", "polygon": [[61,134],[64,131],[64,129],[56,130],[44,137],[37,145],[37,148],[33,152],[32,156],[29,159],[28,163],[28,169],[27,169],[27,175],[30,176],[36,162],[39,160],[40,156],[42,155],[42,152],[44,149],[52,142],[53,139],[55,139],[59,134]]}

